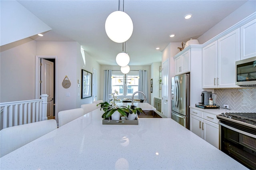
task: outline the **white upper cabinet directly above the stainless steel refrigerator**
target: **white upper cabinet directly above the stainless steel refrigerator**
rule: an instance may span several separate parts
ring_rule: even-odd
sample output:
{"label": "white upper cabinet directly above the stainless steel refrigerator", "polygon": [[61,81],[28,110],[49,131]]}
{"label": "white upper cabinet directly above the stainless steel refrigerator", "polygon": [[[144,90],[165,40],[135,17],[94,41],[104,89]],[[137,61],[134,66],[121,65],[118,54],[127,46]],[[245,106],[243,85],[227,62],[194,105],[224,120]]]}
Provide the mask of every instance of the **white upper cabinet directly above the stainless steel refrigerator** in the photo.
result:
{"label": "white upper cabinet directly above the stainless steel refrigerator", "polygon": [[174,59],[175,75],[186,73],[190,71],[190,49],[180,54]]}

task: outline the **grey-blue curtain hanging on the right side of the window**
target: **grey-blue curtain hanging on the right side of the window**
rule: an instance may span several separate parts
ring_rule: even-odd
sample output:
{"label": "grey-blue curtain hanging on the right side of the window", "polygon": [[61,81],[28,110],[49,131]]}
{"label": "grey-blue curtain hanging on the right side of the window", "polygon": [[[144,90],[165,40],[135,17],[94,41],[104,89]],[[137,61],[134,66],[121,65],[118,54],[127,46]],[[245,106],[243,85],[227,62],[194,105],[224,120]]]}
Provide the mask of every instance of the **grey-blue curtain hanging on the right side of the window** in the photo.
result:
{"label": "grey-blue curtain hanging on the right side of the window", "polygon": [[[140,70],[139,76],[140,76],[140,79],[139,79],[138,90],[142,91],[146,95],[147,103],[148,103],[148,71]],[[138,93],[138,99],[144,99],[144,96],[141,93]]]}

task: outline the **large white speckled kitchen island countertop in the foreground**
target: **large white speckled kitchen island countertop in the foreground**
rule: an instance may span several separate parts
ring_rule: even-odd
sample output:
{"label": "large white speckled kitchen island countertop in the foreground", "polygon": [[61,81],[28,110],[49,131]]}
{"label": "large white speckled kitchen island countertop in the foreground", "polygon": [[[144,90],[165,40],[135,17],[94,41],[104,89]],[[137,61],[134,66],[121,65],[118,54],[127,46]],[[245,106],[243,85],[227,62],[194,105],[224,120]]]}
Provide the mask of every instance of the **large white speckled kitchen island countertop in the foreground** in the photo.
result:
{"label": "large white speckled kitchen island countertop in the foreground", "polygon": [[96,109],[0,158],[0,169],[247,169],[172,119],[102,125]]}

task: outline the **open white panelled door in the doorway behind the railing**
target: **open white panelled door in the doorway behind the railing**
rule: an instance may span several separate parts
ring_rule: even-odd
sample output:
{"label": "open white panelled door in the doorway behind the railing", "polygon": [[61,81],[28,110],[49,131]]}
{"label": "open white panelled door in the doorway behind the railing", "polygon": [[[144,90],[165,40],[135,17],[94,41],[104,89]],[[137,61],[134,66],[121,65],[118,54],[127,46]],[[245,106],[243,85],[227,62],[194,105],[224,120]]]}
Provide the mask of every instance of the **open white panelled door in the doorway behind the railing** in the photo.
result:
{"label": "open white panelled door in the doorway behind the railing", "polygon": [[54,104],[54,63],[41,59],[41,94],[47,94],[47,118],[53,119]]}

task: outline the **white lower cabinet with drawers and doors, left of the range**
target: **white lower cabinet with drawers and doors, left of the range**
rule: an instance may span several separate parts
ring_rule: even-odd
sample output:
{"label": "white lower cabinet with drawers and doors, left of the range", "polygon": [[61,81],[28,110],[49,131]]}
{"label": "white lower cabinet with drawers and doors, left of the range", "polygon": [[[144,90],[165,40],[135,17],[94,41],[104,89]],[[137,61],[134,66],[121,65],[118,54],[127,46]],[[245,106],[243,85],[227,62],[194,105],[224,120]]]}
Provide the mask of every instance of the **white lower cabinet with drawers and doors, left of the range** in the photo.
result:
{"label": "white lower cabinet with drawers and doors, left of the range", "polygon": [[219,125],[216,115],[190,108],[190,130],[219,148]]}

